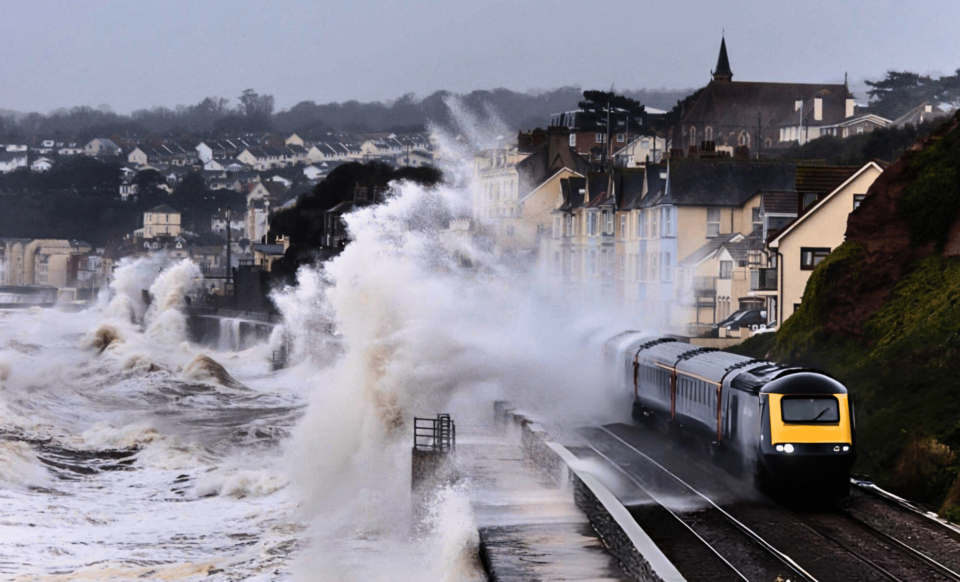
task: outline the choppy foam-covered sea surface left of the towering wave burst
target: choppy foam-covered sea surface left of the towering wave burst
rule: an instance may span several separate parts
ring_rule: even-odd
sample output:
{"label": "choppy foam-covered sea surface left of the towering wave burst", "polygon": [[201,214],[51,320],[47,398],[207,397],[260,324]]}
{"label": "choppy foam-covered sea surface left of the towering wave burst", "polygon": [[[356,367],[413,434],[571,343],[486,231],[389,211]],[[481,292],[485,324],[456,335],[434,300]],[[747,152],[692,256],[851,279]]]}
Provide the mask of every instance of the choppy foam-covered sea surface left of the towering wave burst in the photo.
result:
{"label": "choppy foam-covered sea surface left of the towering wave burst", "polygon": [[108,304],[0,311],[0,579],[291,576],[304,524],[277,451],[299,384],[267,373],[269,344],[187,343],[196,267],[142,280],[148,312],[126,280],[146,263]]}

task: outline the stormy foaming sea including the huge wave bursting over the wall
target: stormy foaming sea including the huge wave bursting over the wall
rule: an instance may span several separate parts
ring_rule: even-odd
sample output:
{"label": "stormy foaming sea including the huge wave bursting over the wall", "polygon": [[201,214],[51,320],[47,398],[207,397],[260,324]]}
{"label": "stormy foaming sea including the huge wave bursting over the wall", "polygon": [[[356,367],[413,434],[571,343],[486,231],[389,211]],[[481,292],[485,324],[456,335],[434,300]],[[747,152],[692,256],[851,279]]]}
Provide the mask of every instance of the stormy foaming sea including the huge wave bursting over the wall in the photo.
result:
{"label": "stormy foaming sea including the huge wave bursting over the wall", "polygon": [[[276,290],[266,343],[234,351],[229,322],[215,348],[188,341],[189,261],[125,259],[79,313],[0,311],[0,579],[485,579],[468,475],[414,522],[414,416],[484,424],[508,399],[561,428],[602,417],[624,399],[588,339],[642,323],[444,242],[472,152],[509,134],[461,117],[435,136],[445,182],[348,215],[345,252]],[[293,366],[273,373],[281,337]]]}

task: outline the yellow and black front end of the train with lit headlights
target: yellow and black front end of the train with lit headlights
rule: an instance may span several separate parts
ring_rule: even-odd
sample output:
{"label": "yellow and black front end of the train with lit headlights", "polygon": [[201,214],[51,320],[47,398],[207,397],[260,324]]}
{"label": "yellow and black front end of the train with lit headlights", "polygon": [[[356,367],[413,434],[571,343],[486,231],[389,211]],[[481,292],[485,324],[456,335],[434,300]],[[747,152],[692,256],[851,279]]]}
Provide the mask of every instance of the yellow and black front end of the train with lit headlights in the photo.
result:
{"label": "yellow and black front end of the train with lit headlights", "polygon": [[796,371],[759,394],[761,478],[825,493],[850,491],[853,415],[847,389],[829,376]]}

